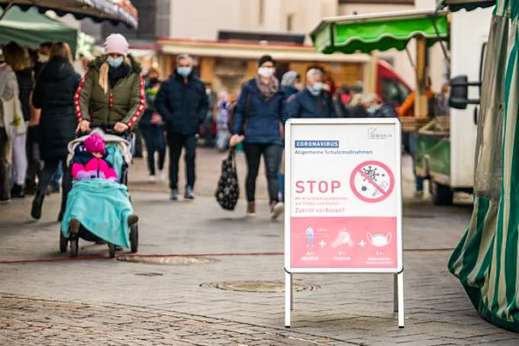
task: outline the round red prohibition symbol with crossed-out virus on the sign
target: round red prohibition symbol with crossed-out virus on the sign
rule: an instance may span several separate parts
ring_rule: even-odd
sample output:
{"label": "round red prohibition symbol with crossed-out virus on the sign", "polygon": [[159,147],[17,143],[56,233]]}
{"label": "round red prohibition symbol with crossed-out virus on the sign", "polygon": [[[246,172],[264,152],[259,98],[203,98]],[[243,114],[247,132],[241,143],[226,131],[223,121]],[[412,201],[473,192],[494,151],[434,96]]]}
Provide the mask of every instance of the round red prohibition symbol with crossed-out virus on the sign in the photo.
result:
{"label": "round red prohibition symbol with crossed-out virus on the sign", "polygon": [[394,175],[380,161],[365,161],[354,168],[349,185],[358,199],[376,203],[388,198],[393,192]]}

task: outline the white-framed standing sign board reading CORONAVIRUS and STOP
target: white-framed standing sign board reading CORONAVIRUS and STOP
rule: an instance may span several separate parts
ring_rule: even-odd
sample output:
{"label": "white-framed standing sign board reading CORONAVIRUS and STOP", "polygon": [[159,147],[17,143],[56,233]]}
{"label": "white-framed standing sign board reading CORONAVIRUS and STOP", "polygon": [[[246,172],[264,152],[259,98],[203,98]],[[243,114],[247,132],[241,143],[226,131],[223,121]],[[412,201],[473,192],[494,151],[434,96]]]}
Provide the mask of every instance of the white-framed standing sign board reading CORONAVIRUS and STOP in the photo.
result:
{"label": "white-framed standing sign board reading CORONAVIRUS and STOP", "polygon": [[394,273],[403,283],[398,119],[289,120],[285,181],[289,310],[293,273]]}

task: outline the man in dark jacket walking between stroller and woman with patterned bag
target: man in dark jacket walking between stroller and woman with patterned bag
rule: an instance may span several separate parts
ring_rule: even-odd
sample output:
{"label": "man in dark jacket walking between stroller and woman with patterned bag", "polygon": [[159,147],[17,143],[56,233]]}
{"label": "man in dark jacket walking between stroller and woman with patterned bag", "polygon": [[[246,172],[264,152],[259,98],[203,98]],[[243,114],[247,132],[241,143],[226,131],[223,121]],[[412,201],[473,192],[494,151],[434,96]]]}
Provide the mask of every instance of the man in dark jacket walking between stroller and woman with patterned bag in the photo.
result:
{"label": "man in dark jacket walking between stroller and woman with patterned bag", "polygon": [[167,130],[170,147],[171,199],[179,199],[179,159],[185,147],[187,184],[185,199],[194,199],[194,158],[199,126],[208,112],[206,85],[192,73],[193,60],[186,54],[176,58],[176,70],[165,82],[155,99]]}

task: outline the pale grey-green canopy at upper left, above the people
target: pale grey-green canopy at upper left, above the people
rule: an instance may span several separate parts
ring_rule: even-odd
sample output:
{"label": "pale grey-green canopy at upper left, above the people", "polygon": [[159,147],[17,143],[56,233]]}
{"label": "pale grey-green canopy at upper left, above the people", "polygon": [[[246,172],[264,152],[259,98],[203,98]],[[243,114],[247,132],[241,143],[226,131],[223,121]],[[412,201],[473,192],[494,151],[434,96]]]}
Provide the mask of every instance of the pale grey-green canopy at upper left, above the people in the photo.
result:
{"label": "pale grey-green canopy at upper left, above the people", "polygon": [[38,46],[43,42],[66,42],[72,54],[78,44],[78,30],[69,28],[46,15],[40,15],[35,8],[23,12],[12,7],[0,21],[0,44],[10,41],[21,46]]}

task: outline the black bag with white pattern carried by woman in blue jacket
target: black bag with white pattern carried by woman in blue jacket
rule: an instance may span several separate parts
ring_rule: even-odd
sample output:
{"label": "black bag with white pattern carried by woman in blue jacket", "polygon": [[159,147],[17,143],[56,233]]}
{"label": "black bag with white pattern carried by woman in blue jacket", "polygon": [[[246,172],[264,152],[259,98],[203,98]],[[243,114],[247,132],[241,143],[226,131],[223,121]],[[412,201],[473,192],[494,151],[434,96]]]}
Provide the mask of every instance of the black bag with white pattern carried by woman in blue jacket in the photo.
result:
{"label": "black bag with white pattern carried by woman in blue jacket", "polygon": [[215,197],[221,208],[235,210],[239,199],[239,183],[234,149],[230,149],[229,155],[221,161],[221,175]]}

